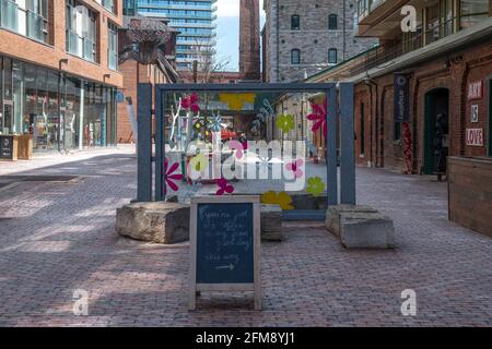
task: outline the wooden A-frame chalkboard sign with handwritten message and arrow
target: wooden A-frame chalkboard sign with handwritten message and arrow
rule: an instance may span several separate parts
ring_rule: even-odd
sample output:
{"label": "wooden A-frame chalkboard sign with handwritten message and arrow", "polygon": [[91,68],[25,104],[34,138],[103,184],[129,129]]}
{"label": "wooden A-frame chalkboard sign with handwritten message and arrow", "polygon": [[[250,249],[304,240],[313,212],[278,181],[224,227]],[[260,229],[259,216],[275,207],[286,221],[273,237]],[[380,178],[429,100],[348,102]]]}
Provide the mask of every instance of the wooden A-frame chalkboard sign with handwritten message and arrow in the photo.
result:
{"label": "wooden A-frame chalkboard sign with handwritten message and arrow", "polygon": [[261,310],[259,196],[191,198],[189,309],[197,292],[254,291]]}

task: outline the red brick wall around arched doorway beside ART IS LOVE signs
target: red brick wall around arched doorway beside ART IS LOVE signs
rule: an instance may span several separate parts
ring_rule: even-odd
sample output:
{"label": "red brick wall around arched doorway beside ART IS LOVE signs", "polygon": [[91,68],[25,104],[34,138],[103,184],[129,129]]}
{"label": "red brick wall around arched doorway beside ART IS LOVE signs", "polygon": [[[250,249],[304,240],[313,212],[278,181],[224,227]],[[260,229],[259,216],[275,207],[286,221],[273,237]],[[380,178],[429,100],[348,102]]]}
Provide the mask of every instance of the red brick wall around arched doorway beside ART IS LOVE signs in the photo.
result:
{"label": "red brick wall around arched doorway beside ART IS LOVE signs", "polygon": [[[424,164],[425,95],[437,88],[449,93],[449,155],[487,156],[490,106],[489,84],[492,77],[492,43],[456,51],[449,57],[429,61],[405,70],[410,77],[410,125],[412,130],[412,170],[420,173]],[[360,129],[360,104],[366,111],[364,158],[359,157],[360,144],[355,143],[355,159],[360,165],[406,170],[403,143],[394,140],[393,73],[372,79],[375,85],[358,83],[355,86],[355,132]],[[467,99],[469,83],[482,81],[483,96]],[[371,98],[372,95],[372,98]],[[471,106],[479,108],[479,121],[471,122]],[[368,113],[370,111],[370,113]],[[491,120],[492,122],[492,120]],[[466,145],[466,129],[482,129],[484,146]],[[371,153],[368,153],[371,152]]]}

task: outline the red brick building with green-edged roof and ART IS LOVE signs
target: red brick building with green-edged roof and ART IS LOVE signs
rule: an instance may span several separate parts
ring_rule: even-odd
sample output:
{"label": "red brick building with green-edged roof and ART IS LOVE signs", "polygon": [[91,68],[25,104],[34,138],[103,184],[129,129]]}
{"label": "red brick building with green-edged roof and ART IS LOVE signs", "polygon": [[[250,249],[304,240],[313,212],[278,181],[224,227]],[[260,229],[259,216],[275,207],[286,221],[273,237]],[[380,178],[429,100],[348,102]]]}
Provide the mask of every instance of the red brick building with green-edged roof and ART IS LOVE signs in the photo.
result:
{"label": "red brick building with green-edged roof and ART IS LOVE signs", "polygon": [[359,35],[380,45],[307,80],[355,83],[358,163],[430,174],[446,171],[446,156],[492,156],[490,1],[417,5],[412,33],[400,28],[411,1],[359,4]]}

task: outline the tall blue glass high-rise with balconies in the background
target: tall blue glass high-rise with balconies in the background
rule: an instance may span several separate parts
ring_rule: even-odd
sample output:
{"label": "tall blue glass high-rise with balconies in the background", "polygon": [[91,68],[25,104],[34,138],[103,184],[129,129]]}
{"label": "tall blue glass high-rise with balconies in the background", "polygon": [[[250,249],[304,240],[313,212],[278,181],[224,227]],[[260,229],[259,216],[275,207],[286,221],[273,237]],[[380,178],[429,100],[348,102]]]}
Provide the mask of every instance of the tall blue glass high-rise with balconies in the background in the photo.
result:
{"label": "tall blue glass high-rise with balconies in the background", "polygon": [[178,70],[190,70],[203,47],[215,46],[216,0],[124,0],[124,14],[164,17],[179,32],[176,46]]}

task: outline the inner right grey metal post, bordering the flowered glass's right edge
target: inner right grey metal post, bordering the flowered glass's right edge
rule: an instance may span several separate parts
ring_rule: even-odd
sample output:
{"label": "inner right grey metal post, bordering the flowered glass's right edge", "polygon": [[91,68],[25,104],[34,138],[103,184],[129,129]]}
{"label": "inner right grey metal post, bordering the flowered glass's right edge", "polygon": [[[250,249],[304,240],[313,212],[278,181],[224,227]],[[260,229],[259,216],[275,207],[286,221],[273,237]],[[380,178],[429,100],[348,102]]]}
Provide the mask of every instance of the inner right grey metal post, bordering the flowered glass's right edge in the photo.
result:
{"label": "inner right grey metal post, bordering the flowered glass's right edge", "polygon": [[332,85],[327,92],[328,110],[326,125],[326,161],[327,161],[327,200],[328,206],[338,204],[338,171],[337,171],[337,88]]}

